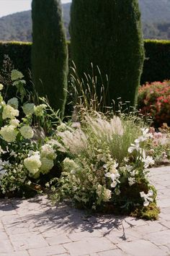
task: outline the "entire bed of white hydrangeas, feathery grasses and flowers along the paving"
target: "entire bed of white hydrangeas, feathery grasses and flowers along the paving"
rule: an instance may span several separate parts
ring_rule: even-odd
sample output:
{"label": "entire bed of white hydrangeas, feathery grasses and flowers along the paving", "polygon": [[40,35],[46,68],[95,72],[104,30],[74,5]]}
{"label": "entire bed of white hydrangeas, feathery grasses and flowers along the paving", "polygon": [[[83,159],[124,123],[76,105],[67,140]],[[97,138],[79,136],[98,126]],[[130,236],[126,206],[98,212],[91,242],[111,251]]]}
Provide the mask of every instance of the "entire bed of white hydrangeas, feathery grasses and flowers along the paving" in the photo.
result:
{"label": "entire bed of white hydrangeas, feathery grasses and flowers along the paving", "polygon": [[[79,106],[79,126],[73,128],[47,101],[31,100],[17,70],[11,83],[16,95],[6,102],[0,85],[1,195],[42,192],[46,184],[54,198],[69,198],[79,208],[158,218],[148,167],[169,153],[165,126],[161,133],[149,132],[133,114],[119,117]],[[56,171],[51,175],[54,166],[62,167],[60,178]]]}

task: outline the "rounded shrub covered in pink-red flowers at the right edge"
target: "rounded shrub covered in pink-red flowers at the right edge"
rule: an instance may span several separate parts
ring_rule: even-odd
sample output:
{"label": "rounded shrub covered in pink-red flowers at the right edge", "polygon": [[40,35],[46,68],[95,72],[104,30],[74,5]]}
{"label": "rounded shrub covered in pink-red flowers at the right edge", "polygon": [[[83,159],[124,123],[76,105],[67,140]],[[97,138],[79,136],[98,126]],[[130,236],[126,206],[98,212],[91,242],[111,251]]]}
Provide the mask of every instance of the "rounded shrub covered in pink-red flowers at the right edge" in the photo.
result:
{"label": "rounded shrub covered in pink-red flowers at the right edge", "polygon": [[147,83],[139,88],[138,108],[153,117],[153,124],[170,124],[170,81]]}

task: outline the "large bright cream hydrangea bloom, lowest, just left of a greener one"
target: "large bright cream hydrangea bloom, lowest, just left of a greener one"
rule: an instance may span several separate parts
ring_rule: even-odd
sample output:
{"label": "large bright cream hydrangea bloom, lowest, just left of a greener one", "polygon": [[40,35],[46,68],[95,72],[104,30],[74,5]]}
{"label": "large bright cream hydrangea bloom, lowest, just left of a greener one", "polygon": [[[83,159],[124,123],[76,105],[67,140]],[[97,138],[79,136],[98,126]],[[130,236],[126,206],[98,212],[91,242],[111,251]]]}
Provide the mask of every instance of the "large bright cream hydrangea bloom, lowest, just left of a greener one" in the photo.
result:
{"label": "large bright cream hydrangea bloom, lowest, just left of a greener one", "polygon": [[24,159],[24,166],[30,171],[30,174],[35,175],[41,166],[40,155],[31,155]]}

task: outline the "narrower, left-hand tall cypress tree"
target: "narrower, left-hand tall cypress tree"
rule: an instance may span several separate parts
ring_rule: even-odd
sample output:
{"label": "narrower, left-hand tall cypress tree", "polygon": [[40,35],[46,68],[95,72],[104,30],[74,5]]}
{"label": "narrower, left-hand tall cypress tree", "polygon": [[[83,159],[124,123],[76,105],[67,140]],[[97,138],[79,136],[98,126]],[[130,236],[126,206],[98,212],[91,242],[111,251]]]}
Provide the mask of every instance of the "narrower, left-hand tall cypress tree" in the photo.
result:
{"label": "narrower, left-hand tall cypress tree", "polygon": [[63,114],[68,49],[60,0],[32,0],[32,78],[40,96]]}

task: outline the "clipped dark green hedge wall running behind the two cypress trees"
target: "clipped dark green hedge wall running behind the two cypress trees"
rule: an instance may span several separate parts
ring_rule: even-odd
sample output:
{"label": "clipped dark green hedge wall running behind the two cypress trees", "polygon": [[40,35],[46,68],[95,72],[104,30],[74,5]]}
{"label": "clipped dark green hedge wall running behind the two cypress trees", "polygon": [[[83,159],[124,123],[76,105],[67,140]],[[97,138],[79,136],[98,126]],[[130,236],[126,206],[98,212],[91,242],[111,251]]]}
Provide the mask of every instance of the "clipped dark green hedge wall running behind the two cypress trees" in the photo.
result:
{"label": "clipped dark green hedge wall running behind the two cypress trees", "polygon": [[[22,42],[0,42],[0,70],[4,54],[12,59],[14,67],[28,77],[31,67],[31,45]],[[70,43],[68,42],[68,50]],[[140,84],[170,80],[170,40],[145,40],[146,60]]]}

